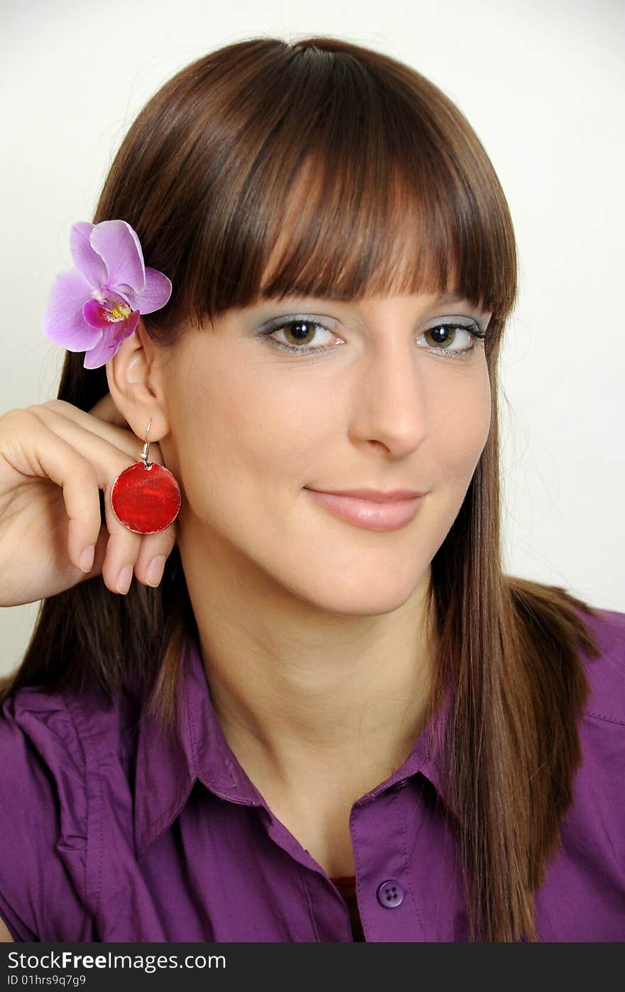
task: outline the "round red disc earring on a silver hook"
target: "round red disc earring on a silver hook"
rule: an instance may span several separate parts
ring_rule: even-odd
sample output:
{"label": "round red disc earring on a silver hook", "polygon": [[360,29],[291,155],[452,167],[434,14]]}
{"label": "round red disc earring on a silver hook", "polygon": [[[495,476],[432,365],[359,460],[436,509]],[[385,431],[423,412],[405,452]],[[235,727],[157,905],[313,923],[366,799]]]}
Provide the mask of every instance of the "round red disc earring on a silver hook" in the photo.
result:
{"label": "round red disc earring on a silver hook", "polygon": [[178,480],[165,465],[148,461],[150,441],[146,440],[141,461],[120,472],[111,486],[111,506],[117,520],[135,534],[157,534],[173,524],[181,508]]}

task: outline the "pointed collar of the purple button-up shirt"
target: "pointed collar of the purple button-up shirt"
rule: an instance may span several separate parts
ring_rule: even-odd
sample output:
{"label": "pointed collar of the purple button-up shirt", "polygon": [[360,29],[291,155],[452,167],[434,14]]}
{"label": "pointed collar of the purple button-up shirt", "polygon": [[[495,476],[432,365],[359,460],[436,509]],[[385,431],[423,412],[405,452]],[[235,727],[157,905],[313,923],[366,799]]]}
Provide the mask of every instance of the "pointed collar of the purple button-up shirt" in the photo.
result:
{"label": "pointed collar of the purple button-up shirt", "polygon": [[[187,636],[183,645],[180,679],[178,722],[173,735],[166,737],[156,717],[146,710],[139,720],[134,799],[135,847],[139,858],[181,812],[197,780],[220,799],[268,808],[225,739],[193,635]],[[360,803],[418,772],[430,779],[441,794],[439,752],[450,699],[447,691],[432,723],[419,735],[404,764],[362,797]],[[431,729],[432,749],[429,748]]]}

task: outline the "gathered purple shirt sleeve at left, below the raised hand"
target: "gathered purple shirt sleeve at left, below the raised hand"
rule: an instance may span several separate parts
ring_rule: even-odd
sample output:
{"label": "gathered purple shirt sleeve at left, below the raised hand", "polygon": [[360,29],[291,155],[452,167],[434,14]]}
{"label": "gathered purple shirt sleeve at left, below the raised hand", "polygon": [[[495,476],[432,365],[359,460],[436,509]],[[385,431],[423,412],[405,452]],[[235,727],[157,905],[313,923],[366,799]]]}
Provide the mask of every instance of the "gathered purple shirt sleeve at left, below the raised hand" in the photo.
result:
{"label": "gathered purple shirt sleeve at left, below the raised hand", "polygon": [[97,939],[99,781],[110,767],[127,790],[124,712],[95,687],[25,686],[0,707],[0,917],[16,940]]}

